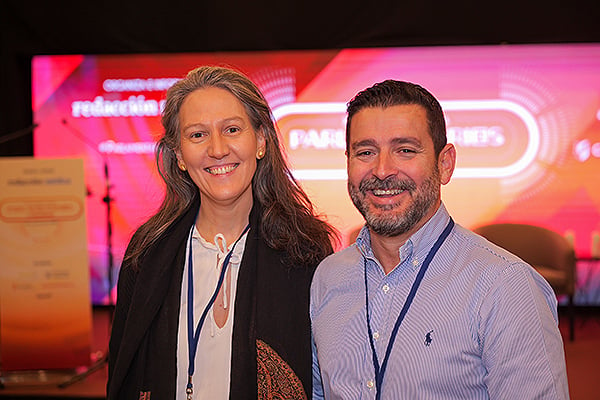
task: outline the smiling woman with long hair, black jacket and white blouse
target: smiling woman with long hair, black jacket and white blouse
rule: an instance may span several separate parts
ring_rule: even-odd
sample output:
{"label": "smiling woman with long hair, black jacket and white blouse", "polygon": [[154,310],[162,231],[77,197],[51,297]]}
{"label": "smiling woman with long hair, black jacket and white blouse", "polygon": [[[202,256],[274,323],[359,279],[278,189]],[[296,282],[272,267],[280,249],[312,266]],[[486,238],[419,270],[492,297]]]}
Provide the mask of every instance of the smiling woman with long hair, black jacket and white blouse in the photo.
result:
{"label": "smiling woman with long hair, black jacket and white blouse", "polygon": [[335,233],[290,175],[266,100],[201,67],[168,90],[162,124],[166,195],[121,267],[107,397],[306,398],[309,286]]}

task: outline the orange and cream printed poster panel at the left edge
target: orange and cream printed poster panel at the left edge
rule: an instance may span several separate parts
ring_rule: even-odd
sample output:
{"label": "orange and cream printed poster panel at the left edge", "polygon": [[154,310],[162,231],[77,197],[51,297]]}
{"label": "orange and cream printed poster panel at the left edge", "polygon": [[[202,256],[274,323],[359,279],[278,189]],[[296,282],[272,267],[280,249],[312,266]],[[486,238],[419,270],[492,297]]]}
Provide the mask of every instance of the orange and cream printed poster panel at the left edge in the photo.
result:
{"label": "orange and cream printed poster panel at the left edge", "polygon": [[91,302],[82,159],[0,159],[4,371],[89,365]]}

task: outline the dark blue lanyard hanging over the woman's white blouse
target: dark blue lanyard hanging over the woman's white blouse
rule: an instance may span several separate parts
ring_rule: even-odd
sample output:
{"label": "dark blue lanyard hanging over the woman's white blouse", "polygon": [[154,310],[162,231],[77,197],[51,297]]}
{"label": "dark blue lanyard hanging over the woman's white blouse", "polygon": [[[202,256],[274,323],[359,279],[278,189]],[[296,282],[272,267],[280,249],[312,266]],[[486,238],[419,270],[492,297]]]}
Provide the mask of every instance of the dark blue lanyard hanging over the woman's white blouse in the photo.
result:
{"label": "dark blue lanyard hanging over the woman's white blouse", "polygon": [[204,320],[208,315],[208,311],[215,303],[217,299],[217,295],[219,294],[219,290],[223,285],[223,281],[225,279],[225,272],[227,271],[227,266],[229,265],[229,260],[231,259],[231,255],[233,254],[233,250],[235,249],[235,245],[238,244],[240,239],[244,236],[244,234],[250,229],[250,224],[244,228],[244,231],[241,233],[240,237],[235,241],[233,246],[231,246],[231,250],[225,256],[225,260],[223,261],[223,266],[221,267],[221,273],[219,275],[219,280],[217,282],[217,287],[215,288],[215,292],[212,297],[208,301],[206,307],[204,307],[204,311],[202,312],[202,316],[198,321],[198,326],[196,327],[196,331],[194,332],[194,267],[193,267],[193,255],[192,255],[192,233],[194,232],[193,228],[190,232],[189,239],[189,249],[188,249],[188,351],[189,351],[189,363],[188,363],[188,384],[185,389],[187,394],[187,398],[191,399],[192,394],[194,393],[194,387],[192,384],[192,376],[194,375],[195,369],[195,359],[196,359],[196,350],[198,350],[198,341],[200,340],[200,331],[202,330],[202,325],[204,325]]}

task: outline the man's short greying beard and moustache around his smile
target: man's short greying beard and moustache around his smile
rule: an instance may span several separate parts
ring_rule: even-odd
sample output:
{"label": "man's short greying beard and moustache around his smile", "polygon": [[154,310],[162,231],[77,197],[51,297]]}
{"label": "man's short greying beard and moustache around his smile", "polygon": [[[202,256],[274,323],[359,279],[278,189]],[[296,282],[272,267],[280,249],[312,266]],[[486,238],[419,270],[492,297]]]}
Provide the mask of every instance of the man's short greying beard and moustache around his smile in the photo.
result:
{"label": "man's short greying beard and moustache around his smile", "polygon": [[[400,203],[382,206],[368,202],[367,191],[377,189],[405,190],[410,194],[412,202],[404,211],[397,210]],[[434,168],[432,175],[420,187],[412,179],[398,179],[396,176],[389,176],[384,180],[373,176],[362,180],[358,188],[348,181],[348,193],[369,229],[381,236],[394,237],[409,232],[436,203],[440,196],[439,171]],[[372,212],[371,207],[380,212]]]}

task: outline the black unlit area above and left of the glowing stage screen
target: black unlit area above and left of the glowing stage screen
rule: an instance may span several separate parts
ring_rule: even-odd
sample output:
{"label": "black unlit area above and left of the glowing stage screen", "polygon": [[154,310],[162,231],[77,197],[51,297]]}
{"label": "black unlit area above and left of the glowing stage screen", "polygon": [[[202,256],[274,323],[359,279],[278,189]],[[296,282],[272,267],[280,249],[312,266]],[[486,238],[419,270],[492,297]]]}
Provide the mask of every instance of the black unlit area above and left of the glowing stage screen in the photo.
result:
{"label": "black unlit area above and left of the glowing stage screen", "polygon": [[[31,56],[600,42],[600,1],[0,1],[0,155],[31,155]],[[600,71],[599,71],[600,73]]]}

